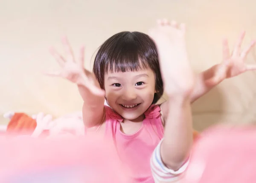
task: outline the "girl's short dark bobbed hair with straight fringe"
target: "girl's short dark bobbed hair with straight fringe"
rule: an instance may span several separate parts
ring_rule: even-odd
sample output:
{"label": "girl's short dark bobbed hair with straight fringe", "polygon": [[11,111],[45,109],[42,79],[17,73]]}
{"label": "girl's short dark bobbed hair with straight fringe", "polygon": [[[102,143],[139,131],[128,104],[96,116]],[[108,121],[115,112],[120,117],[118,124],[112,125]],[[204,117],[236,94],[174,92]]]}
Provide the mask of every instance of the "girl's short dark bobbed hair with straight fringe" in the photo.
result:
{"label": "girl's short dark bobbed hair with straight fringe", "polygon": [[152,104],[163,95],[157,47],[154,41],[142,32],[119,32],[108,38],[96,54],[93,73],[102,89],[106,73],[139,71],[150,68],[155,74],[155,90]]}

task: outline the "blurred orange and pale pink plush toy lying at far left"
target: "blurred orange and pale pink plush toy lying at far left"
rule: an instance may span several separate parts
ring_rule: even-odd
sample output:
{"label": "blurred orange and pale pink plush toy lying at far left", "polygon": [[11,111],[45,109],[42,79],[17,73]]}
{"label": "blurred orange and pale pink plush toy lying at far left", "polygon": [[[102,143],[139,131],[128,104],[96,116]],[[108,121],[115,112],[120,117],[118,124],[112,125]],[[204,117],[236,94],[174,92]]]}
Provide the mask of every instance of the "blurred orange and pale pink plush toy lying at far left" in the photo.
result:
{"label": "blurred orange and pale pink plush toy lying at far left", "polygon": [[29,135],[32,137],[84,135],[81,112],[70,113],[54,120],[51,115],[44,115],[44,113],[29,116],[26,113],[8,112],[4,117],[10,119],[6,130],[7,134]]}

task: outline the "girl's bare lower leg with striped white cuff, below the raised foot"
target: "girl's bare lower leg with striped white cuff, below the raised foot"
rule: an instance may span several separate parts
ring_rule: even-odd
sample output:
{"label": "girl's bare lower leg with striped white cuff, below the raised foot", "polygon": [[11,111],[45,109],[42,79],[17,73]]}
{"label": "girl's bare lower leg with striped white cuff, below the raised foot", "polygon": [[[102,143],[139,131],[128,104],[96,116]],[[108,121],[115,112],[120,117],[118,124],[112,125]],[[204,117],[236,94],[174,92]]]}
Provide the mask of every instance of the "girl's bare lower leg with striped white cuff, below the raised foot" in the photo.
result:
{"label": "girl's bare lower leg with striped white cuff, below the raised foot", "polygon": [[[161,107],[161,106],[160,106]],[[155,183],[178,183],[188,166],[192,145],[192,114],[189,97],[173,98],[169,105],[164,138],[151,156],[151,170]],[[176,153],[174,153],[176,152]]]}

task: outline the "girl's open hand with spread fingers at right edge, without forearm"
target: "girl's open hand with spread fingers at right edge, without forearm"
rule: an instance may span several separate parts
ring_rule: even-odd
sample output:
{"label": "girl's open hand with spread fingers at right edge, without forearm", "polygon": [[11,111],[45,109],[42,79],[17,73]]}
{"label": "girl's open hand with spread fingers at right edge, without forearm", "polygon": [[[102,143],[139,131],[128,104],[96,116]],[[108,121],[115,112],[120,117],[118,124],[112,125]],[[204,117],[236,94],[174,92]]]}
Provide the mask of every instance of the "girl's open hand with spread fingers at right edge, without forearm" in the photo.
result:
{"label": "girl's open hand with spread fingers at right edge, without forearm", "polygon": [[233,52],[230,53],[227,39],[223,40],[223,61],[217,64],[208,72],[206,84],[216,85],[225,78],[238,76],[248,70],[256,70],[256,64],[246,64],[245,59],[250,50],[256,43],[256,40],[241,50],[241,44],[244,39],[245,32],[241,32],[237,43],[235,44]]}

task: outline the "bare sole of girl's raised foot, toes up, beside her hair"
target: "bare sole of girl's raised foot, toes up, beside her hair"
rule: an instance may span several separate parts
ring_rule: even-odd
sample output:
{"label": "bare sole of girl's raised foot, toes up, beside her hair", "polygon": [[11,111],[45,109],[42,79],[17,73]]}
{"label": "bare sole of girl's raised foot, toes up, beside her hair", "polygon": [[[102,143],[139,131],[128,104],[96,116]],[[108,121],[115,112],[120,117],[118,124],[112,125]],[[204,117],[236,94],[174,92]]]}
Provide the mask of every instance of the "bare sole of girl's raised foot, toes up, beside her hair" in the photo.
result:
{"label": "bare sole of girl's raised foot, toes up, beside her hair", "polygon": [[158,49],[165,92],[171,96],[190,94],[195,79],[187,58],[185,25],[159,20],[149,35]]}

